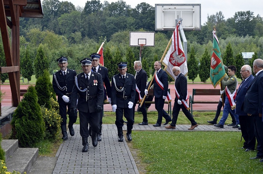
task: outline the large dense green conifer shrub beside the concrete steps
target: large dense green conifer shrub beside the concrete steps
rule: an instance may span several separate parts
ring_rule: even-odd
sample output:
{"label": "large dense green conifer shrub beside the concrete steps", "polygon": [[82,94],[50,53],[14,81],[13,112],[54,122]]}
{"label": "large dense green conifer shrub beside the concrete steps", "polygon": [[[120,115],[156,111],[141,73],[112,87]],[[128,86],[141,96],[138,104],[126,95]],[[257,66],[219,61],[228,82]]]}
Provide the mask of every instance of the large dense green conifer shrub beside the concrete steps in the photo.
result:
{"label": "large dense green conifer shrub beside the concrete steps", "polygon": [[44,138],[45,124],[37,101],[35,87],[28,86],[13,114],[11,136],[18,139],[23,147],[33,147]]}

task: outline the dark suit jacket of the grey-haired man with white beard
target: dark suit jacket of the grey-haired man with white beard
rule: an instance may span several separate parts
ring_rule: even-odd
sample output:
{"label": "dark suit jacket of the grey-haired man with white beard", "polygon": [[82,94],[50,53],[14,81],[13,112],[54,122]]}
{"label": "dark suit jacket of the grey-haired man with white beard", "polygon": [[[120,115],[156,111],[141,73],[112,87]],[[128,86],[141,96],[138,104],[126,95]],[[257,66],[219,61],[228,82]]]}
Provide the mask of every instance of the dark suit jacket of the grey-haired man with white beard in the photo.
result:
{"label": "dark suit jacket of the grey-haired man with white beard", "polygon": [[[144,97],[144,89],[146,88],[147,84],[147,73],[144,71],[144,69],[141,69],[137,75],[136,75],[136,85],[140,90],[140,96],[143,98]],[[135,99],[139,100],[139,94],[136,92],[135,94]]]}

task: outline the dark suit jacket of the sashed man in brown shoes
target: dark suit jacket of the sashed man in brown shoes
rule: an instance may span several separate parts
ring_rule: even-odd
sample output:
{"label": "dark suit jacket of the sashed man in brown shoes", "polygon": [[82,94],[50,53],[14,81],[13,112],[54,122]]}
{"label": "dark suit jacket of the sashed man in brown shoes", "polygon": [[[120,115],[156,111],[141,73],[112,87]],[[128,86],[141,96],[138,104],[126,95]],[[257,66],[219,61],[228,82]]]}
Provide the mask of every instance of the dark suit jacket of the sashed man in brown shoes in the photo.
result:
{"label": "dark suit jacket of the sashed man in brown shoes", "polygon": [[[180,95],[179,100],[181,100],[181,101],[183,99],[186,100],[186,97],[187,97],[187,79],[182,73],[180,73],[177,76],[174,85],[176,87],[177,92]],[[174,101],[178,101],[178,97],[177,96],[175,97]]]}

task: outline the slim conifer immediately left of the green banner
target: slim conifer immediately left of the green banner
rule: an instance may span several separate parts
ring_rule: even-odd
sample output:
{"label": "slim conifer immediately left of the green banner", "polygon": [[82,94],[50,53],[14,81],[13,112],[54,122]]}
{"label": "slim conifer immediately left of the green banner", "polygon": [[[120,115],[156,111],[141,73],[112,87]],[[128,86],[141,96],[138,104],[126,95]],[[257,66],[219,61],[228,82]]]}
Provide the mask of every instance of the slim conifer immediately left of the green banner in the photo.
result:
{"label": "slim conifer immediately left of the green banner", "polygon": [[210,76],[210,55],[208,54],[207,48],[200,60],[199,77],[202,82],[206,83]]}

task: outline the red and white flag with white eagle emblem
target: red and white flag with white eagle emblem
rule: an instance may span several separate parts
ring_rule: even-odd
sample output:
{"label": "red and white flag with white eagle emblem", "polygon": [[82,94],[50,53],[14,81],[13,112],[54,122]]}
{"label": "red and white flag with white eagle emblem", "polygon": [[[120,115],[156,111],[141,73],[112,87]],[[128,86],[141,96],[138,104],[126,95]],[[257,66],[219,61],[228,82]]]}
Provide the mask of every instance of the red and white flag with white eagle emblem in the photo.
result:
{"label": "red and white flag with white eagle emblem", "polygon": [[174,30],[172,36],[172,44],[162,61],[162,64],[165,65],[164,70],[169,74],[170,77],[173,78],[173,80],[175,79],[172,71],[174,66],[179,66],[183,75],[187,76],[188,74],[186,57],[178,31],[179,25],[180,22],[177,23],[176,29]]}

